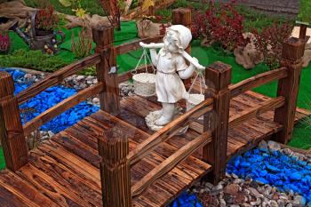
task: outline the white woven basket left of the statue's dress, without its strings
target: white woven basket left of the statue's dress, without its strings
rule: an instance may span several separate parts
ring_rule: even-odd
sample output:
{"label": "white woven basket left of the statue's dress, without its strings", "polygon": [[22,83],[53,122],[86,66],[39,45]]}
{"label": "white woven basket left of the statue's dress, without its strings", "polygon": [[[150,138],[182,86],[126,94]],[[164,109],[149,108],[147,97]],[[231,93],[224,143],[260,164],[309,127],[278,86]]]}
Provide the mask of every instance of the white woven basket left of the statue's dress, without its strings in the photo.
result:
{"label": "white woven basket left of the statue's dress, without its strings", "polygon": [[140,73],[132,76],[134,81],[134,92],[142,97],[156,95],[156,75]]}

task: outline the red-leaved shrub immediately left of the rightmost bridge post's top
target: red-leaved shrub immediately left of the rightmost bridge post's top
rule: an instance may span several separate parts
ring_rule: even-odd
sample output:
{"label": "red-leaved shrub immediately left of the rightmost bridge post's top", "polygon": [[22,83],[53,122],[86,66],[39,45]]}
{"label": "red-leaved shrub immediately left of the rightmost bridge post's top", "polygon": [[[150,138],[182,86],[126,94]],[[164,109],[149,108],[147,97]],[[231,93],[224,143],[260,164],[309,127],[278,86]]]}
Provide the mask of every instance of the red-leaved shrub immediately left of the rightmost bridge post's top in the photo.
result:
{"label": "red-leaved shrub immediately left of the rightmost bridge post's top", "polygon": [[271,69],[279,68],[282,59],[283,42],[291,36],[292,25],[290,23],[273,24],[261,31],[253,29],[255,46],[264,55],[264,62]]}

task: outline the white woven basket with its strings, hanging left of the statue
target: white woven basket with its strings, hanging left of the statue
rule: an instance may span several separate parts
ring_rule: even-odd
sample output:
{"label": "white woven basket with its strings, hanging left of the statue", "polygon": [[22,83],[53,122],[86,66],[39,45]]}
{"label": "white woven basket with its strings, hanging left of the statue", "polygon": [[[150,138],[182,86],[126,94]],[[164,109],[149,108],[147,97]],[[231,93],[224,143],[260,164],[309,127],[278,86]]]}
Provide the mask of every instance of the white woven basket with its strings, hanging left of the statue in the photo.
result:
{"label": "white woven basket with its strings, hanging left of the statue", "polygon": [[[137,73],[141,60],[145,60],[145,73]],[[147,59],[151,62],[151,66],[154,73],[148,73]],[[142,97],[150,97],[156,95],[156,68],[153,67],[152,61],[150,60],[146,49],[143,49],[140,61],[138,62],[136,68],[133,70],[132,79],[134,82],[134,92]]]}

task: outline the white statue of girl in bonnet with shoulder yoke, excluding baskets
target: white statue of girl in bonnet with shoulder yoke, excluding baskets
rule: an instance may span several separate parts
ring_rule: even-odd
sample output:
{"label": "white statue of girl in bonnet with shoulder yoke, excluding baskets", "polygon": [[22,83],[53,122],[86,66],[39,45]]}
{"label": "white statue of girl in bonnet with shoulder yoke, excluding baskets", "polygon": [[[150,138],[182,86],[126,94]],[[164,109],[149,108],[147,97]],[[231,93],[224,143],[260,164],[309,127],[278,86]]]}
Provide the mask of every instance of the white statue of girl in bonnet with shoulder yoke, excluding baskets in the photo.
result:
{"label": "white statue of girl in bonnet with shoulder yoke, excluding baskets", "polygon": [[[162,115],[156,120],[156,125],[170,123],[175,112],[175,103],[185,99],[187,92],[181,79],[193,75],[195,68],[205,69],[185,52],[192,39],[191,31],[182,25],[173,25],[166,29],[162,44],[144,44],[150,49],[152,64],[156,67],[156,96],[162,103]],[[157,53],[156,48],[161,48]],[[190,65],[187,65],[187,61]]]}

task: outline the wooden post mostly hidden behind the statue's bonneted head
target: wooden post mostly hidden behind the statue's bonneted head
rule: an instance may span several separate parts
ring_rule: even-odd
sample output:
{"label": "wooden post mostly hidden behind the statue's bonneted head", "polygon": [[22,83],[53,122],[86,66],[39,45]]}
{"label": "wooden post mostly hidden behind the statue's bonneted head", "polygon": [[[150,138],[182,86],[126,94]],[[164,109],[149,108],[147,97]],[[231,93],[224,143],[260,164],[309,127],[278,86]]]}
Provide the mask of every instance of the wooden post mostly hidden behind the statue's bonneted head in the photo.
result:
{"label": "wooden post mostly hidden behind the statue's bonneted head", "polygon": [[[187,28],[191,29],[192,16],[191,16],[191,10],[190,9],[187,9],[187,8],[175,9],[171,12],[171,17],[172,17],[171,23],[173,25],[183,25],[183,26],[186,26]],[[191,45],[190,44],[187,47],[186,52],[188,54],[191,54]],[[183,80],[183,82],[187,87],[190,87],[190,84],[191,84],[190,78],[187,80]]]}

